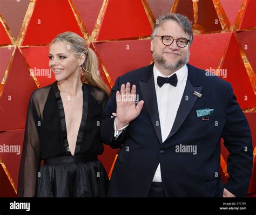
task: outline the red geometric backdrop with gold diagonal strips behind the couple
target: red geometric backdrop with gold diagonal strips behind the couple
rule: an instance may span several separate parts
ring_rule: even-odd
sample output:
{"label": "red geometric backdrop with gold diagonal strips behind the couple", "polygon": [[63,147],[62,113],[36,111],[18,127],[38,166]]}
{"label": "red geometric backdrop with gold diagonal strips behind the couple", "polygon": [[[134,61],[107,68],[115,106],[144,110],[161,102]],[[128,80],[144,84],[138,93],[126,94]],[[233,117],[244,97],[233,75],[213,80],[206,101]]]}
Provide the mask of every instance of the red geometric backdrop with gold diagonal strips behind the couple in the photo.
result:
{"label": "red geometric backdrop with gold diagonal strips behind the couple", "polygon": [[[151,63],[153,24],[170,11],[186,15],[193,24],[190,64],[227,71],[221,78],[231,82],[252,131],[254,166],[248,196],[256,196],[255,10],[254,0],[0,0],[0,197],[16,196],[21,158],[3,152],[3,147],[19,145],[22,151],[29,96],[55,81],[49,74],[30,75],[31,69],[48,69],[50,41],[65,31],[87,39],[111,88],[119,75]],[[117,150],[104,147],[100,159],[111,174]],[[227,156],[221,145],[224,182]]]}

